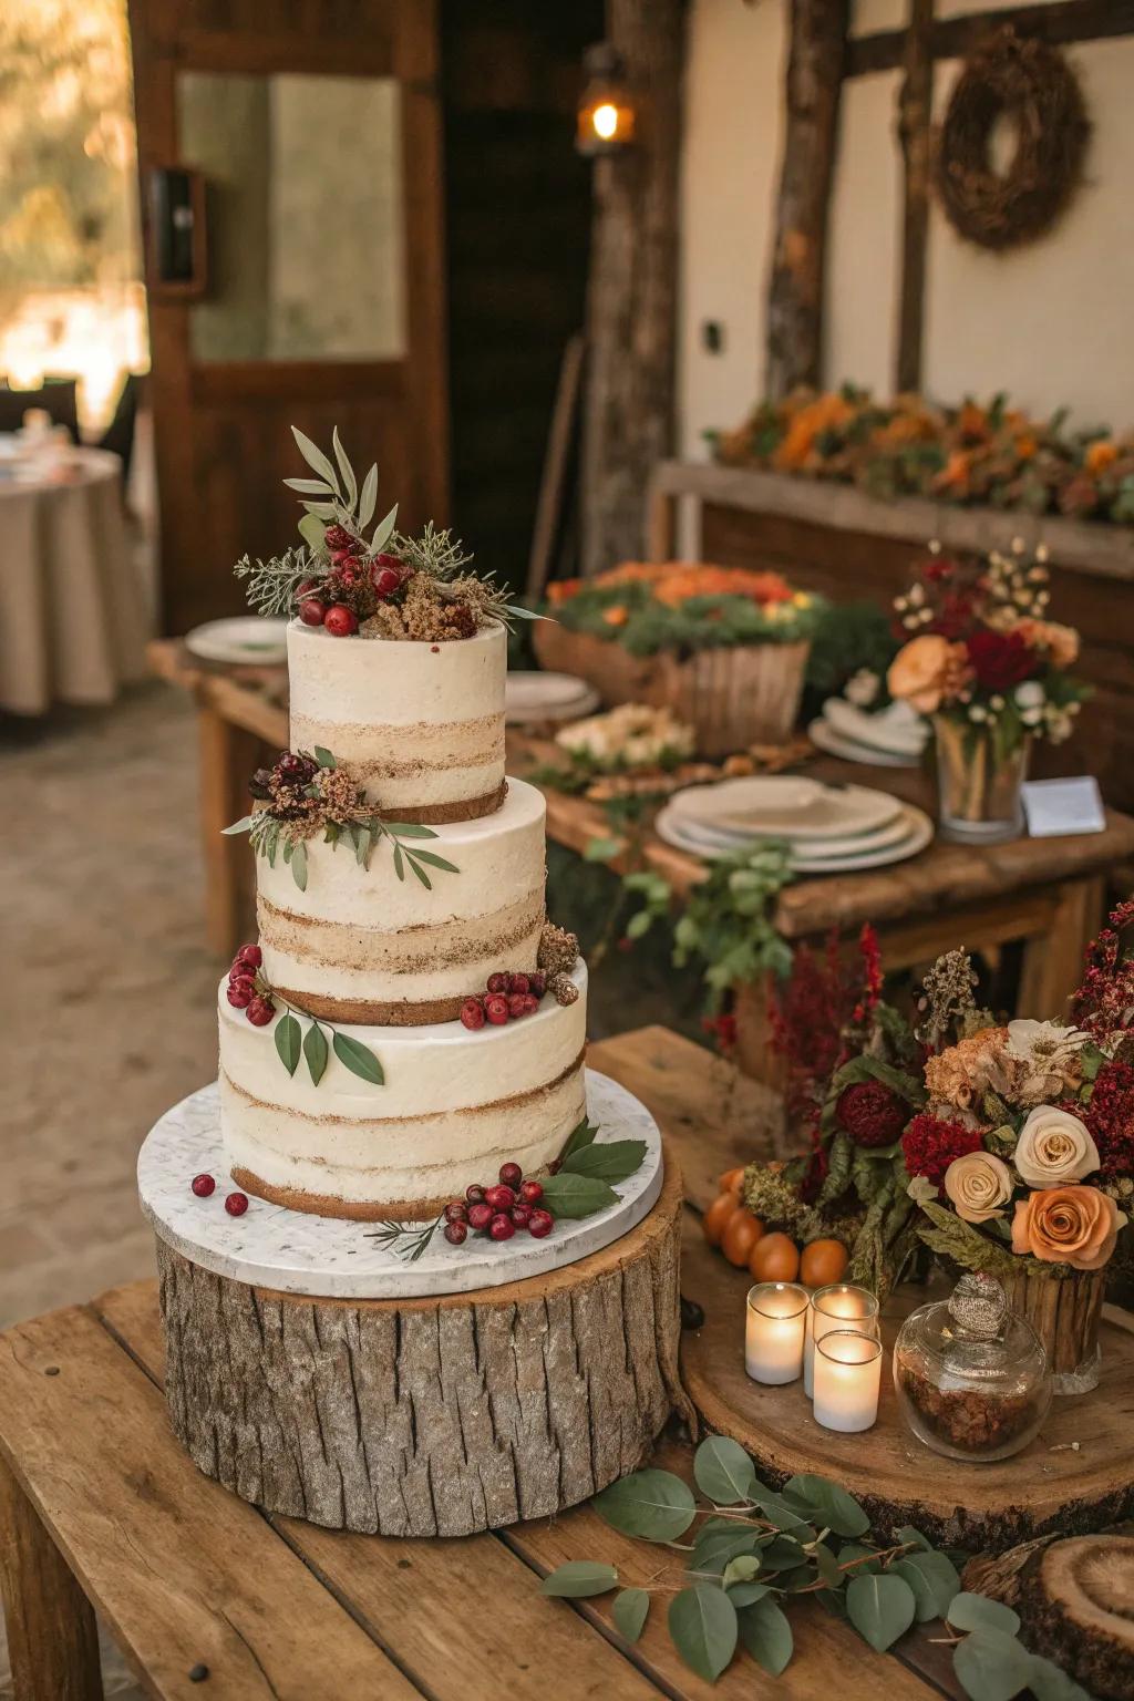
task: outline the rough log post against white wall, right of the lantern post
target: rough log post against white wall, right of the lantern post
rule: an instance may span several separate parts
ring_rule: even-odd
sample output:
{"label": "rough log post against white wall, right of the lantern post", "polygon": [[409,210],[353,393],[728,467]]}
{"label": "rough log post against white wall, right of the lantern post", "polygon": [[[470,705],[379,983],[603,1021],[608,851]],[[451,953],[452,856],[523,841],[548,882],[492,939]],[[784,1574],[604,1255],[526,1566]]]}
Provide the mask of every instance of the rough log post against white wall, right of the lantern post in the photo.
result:
{"label": "rough log post against white wall, right of the lantern post", "polygon": [[768,289],[765,395],[819,384],[826,208],[848,0],[792,0],[784,165]]}

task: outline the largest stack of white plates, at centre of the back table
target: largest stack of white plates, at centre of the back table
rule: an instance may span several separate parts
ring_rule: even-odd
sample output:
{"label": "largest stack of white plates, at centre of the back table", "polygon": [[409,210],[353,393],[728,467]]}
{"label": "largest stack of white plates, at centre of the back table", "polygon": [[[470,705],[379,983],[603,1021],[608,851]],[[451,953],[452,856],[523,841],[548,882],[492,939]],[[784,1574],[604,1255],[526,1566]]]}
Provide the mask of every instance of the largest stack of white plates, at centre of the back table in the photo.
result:
{"label": "largest stack of white plates, at centre of the back table", "polygon": [[923,810],[867,786],[768,776],[690,786],[655,822],[660,839],[712,861],[753,839],[785,839],[797,874],[845,874],[916,856],[933,839]]}

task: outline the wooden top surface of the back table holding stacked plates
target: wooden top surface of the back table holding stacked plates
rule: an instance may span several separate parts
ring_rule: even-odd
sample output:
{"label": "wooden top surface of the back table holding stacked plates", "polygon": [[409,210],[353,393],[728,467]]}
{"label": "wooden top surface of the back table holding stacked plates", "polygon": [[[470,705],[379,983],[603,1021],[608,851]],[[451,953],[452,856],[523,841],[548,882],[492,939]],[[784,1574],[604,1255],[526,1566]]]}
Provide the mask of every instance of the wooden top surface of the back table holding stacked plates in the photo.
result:
{"label": "wooden top surface of the back table holding stacked plates", "polygon": [[[284,668],[211,668],[196,662],[180,640],[158,640],[148,650],[155,674],[187,686],[238,726],[258,733],[281,748],[287,743]],[[508,728],[508,772],[519,779],[537,764],[563,760],[563,752],[546,738]],[[808,762],[816,779],[840,784],[870,784],[908,803],[933,810],[932,786],[916,769],[865,771],[853,762],[816,754]],[[571,850],[585,850],[592,839],[610,839],[610,823],[598,803],[571,798],[547,788],[547,835]],[[614,835],[617,837],[617,835]],[[663,844],[646,832],[636,854],[663,874],[673,890],[687,893],[706,876],[706,864]],[[1091,874],[1105,874],[1134,857],[1134,818],[1107,810],[1102,833],[1066,839],[1013,839],[1008,844],[971,847],[935,840],[908,862],[862,874],[813,874],[792,881],[779,896],[775,925],[785,939],[825,934],[831,927],[857,929],[864,922],[882,925],[925,913],[988,902],[1006,903],[1029,888],[1051,886]],[[621,869],[624,857],[610,866]]]}

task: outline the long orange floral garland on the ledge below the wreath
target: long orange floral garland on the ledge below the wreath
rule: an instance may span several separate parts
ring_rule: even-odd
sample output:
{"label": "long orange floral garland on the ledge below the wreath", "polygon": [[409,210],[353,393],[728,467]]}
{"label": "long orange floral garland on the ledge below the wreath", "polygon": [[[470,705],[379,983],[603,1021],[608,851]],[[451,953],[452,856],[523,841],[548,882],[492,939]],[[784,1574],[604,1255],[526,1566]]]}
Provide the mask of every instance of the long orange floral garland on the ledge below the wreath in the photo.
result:
{"label": "long orange floral garland on the ledge below the wreath", "polygon": [[876,401],[843,384],[763,401],[711,441],[728,466],[857,485],[882,500],[933,497],[1132,526],[1134,432],[1068,435],[1064,417],[1030,418],[1005,395],[937,407],[916,395]]}

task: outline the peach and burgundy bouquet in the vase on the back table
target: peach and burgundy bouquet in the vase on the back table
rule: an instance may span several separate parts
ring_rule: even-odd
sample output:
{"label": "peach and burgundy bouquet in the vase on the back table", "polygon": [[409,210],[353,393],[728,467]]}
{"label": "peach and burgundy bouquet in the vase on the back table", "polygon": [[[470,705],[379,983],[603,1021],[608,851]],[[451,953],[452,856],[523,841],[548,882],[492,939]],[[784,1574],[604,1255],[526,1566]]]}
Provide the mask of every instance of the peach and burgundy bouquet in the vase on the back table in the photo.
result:
{"label": "peach and burgundy bouquet in the vase on the back table", "polygon": [[928,560],[894,600],[904,646],[891,662],[893,697],[920,714],[944,714],[976,747],[986,735],[998,759],[1025,738],[1061,743],[1090,694],[1068,668],[1080,634],[1047,619],[1047,553],[993,549],[964,561],[930,544]]}

